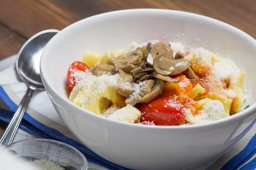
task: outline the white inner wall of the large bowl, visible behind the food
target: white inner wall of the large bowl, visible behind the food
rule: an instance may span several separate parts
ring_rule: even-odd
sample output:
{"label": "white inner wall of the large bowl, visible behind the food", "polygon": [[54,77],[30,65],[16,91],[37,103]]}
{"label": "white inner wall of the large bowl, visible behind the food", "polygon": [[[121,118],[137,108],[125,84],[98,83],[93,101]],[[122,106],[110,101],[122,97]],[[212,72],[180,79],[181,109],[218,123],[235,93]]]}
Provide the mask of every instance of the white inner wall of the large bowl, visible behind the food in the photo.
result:
{"label": "white inner wall of the large bowl, visible behind the food", "polygon": [[247,72],[246,86],[256,94],[256,41],[233,26],[181,11],[135,9],[86,18],[68,26],[50,40],[41,58],[41,74],[49,87],[66,98],[64,86],[70,64],[81,61],[85,50],[104,53],[127,49],[131,42],[181,42],[230,57]]}

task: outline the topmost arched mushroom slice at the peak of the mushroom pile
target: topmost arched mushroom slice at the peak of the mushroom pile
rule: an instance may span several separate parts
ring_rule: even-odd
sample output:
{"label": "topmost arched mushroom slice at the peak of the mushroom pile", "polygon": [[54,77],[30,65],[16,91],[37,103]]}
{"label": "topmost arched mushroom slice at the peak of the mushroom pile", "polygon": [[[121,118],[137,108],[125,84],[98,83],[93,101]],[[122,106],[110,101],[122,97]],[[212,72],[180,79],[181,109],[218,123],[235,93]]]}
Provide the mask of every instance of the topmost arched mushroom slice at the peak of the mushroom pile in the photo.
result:
{"label": "topmost arched mushroom slice at the peak of the mushroom pile", "polygon": [[158,54],[166,54],[169,59],[174,59],[172,48],[166,42],[157,42],[148,54],[147,63],[153,65],[154,57]]}

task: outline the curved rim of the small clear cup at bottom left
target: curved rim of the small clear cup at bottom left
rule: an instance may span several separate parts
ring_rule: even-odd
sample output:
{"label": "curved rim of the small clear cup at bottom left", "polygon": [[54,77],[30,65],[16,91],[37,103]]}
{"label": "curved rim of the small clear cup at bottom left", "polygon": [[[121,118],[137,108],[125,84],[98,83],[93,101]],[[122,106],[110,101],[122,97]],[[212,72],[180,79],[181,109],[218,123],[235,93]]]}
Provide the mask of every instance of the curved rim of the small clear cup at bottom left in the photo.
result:
{"label": "curved rim of the small clear cup at bottom left", "polygon": [[17,141],[17,142],[13,142],[9,145],[7,145],[5,148],[5,150],[3,151],[4,153],[8,152],[10,150],[10,148],[12,148],[15,144],[19,144],[19,143],[27,143],[27,142],[52,142],[54,144],[62,144],[66,147],[69,147],[70,149],[74,150],[76,153],[78,153],[81,158],[83,159],[84,161],[84,169],[83,170],[87,170],[88,169],[88,161],[86,159],[86,157],[84,156],[84,154],[82,154],[78,149],[76,149],[75,147],[69,145],[69,144],[66,144],[64,142],[60,142],[60,141],[55,141],[55,140],[52,140],[52,139],[40,139],[40,138],[36,138],[36,139],[24,139],[24,140],[20,140],[20,141]]}

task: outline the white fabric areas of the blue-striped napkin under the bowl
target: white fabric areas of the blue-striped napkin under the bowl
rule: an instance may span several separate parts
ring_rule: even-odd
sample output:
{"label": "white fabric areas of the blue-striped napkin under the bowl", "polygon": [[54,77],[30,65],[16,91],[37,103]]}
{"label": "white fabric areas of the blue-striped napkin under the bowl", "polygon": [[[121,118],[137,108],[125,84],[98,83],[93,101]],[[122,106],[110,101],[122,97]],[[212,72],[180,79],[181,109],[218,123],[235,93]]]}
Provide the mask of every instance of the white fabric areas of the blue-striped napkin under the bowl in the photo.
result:
{"label": "white fabric areas of the blue-striped napkin under the bowl", "polygon": [[[15,102],[16,105],[19,105],[21,98],[23,97],[27,87],[23,82],[19,82],[15,74],[15,55],[11,56],[5,60],[0,61],[0,85],[6,91],[8,96]],[[0,99],[0,108],[9,109],[3,101]],[[45,91],[38,92],[35,94],[29,103],[29,107],[26,110],[30,116],[34,119],[37,119],[39,122],[52,127],[59,132],[63,133],[65,136],[70,138],[75,138],[73,134],[65,127],[62,120],[58,117],[58,114],[55,112],[47,94]],[[256,125],[254,125],[248,133],[239,140],[230,150],[225,154],[220,156],[218,159],[206,162],[199,167],[192,168],[190,170],[220,170],[230,159],[236,156],[241,150],[246,147],[250,139],[255,135]],[[18,130],[17,135],[15,136],[14,141],[36,138],[29,133],[26,133],[23,130]],[[253,159],[254,155],[251,159]],[[250,160],[251,160],[250,159]],[[249,161],[250,161],[249,160]],[[246,162],[247,163],[247,162]],[[245,163],[245,164],[246,164]],[[93,164],[89,162],[90,170],[107,170],[104,167]]]}

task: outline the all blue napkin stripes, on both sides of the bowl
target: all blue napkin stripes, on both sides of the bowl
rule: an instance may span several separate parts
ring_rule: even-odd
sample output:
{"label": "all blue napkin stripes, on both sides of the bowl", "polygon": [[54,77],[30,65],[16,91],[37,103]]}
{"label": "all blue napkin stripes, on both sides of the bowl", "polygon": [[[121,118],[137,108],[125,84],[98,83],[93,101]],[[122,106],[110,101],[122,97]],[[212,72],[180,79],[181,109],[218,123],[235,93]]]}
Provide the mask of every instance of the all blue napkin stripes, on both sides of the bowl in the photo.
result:
{"label": "all blue napkin stripes, on both sides of the bowl", "polygon": [[[16,111],[17,105],[9,98],[4,89],[0,86],[0,98],[9,106],[12,111]],[[9,122],[13,116],[13,112],[6,111],[0,108],[0,119]],[[254,124],[254,123],[253,123]],[[41,122],[38,122],[36,119],[32,118],[28,113],[25,113],[23,116],[23,121],[21,122],[21,129],[25,130],[32,135],[38,136],[39,138],[46,138],[61,141],[67,144],[70,144],[73,147],[76,147],[88,161],[93,162],[95,164],[99,164],[102,167],[106,167],[109,170],[131,170],[125,167],[121,167],[119,165],[113,164],[106,159],[98,156],[96,153],[93,153],[84,145],[80,144],[74,139],[71,139],[67,136],[64,136],[58,130],[55,130],[51,127],[48,127]],[[51,133],[49,133],[51,132]],[[252,137],[247,146],[241,150],[236,156],[234,156],[230,161],[228,161],[221,170],[236,170],[242,164],[244,164],[248,159],[250,159],[254,153],[256,153],[256,135]],[[241,170],[255,170],[256,168],[256,158],[252,161],[241,167]]]}

